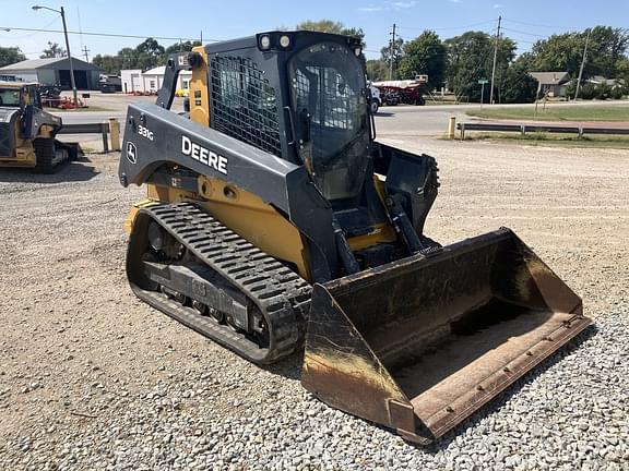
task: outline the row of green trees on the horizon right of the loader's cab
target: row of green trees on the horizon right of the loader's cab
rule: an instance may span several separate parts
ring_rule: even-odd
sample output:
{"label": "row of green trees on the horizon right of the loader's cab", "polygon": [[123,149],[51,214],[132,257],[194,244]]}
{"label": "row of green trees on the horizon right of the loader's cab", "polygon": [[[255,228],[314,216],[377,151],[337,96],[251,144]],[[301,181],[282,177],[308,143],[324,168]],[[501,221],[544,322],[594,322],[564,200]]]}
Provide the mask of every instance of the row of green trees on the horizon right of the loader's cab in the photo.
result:
{"label": "row of green trees on the horizon right of the loader's cab", "polygon": [[[413,78],[428,74],[429,87],[446,87],[458,97],[479,101],[479,80],[490,80],[494,50],[497,43],[495,100],[498,102],[526,102],[536,97],[537,81],[530,72],[561,71],[573,78],[568,93],[573,94],[579,75],[585,40],[588,60],[582,80],[596,75],[619,78],[624,86],[585,84],[580,96],[583,98],[620,97],[629,93],[629,31],[609,26],[596,26],[578,33],[553,35],[536,41],[530,52],[515,57],[515,40],[482,32],[466,32],[442,40],[435,32],[425,31],[411,41],[396,39],[393,48],[381,49],[381,57],[367,61],[367,75],[372,81],[388,80],[393,53],[393,78]],[[487,86],[485,87],[487,90]],[[486,98],[487,99],[487,98]]]}

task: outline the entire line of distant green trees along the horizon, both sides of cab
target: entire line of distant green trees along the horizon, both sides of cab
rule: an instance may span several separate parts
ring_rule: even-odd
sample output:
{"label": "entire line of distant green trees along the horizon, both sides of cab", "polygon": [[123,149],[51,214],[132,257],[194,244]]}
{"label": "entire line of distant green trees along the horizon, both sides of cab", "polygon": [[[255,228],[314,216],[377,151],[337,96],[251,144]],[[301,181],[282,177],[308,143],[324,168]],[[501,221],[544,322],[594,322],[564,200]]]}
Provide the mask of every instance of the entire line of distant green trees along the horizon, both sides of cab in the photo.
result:
{"label": "entire line of distant green trees along the horizon, both sides of cab", "polygon": [[[364,48],[366,46],[361,28],[346,27],[343,23],[332,20],[306,21],[296,25],[295,29],[355,36],[360,39]],[[366,61],[367,75],[372,81],[381,81],[388,80],[391,73],[393,78],[401,80],[427,74],[430,89],[438,90],[446,87],[461,99],[478,101],[480,99],[478,81],[490,80],[494,50],[497,45],[495,100],[525,102],[534,100],[537,94],[537,82],[530,76],[530,72],[566,71],[573,80],[568,93],[573,93],[586,40],[588,60],[583,69],[583,81],[601,75],[624,81],[624,87],[613,88],[606,84],[585,83],[580,96],[606,98],[627,94],[629,29],[610,26],[551,35],[536,41],[531,51],[518,57],[517,41],[509,37],[501,36],[496,40],[495,36],[487,33],[470,31],[452,38],[441,39],[437,33],[424,31],[412,40],[404,41],[397,38],[393,45],[382,47],[379,59]],[[200,44],[182,41],[164,47],[156,39],[147,38],[134,48],[120,49],[115,56],[96,55],[92,62],[108,73],[119,73],[123,69],[147,70],[163,65],[169,53],[190,51]],[[66,55],[66,50],[58,44],[48,43],[41,57]],[[0,67],[25,59],[16,47],[0,47]],[[485,89],[488,93],[488,86]]]}

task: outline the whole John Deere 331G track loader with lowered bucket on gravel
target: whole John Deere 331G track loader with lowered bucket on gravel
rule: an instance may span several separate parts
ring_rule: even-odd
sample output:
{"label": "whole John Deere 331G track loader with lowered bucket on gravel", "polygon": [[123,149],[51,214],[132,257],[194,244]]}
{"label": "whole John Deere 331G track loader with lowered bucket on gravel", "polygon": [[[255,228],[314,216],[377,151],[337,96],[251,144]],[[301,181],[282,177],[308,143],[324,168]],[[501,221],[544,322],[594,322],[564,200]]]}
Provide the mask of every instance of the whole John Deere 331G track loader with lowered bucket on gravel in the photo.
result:
{"label": "whole John Deere 331G track loader with lowered bucket on gravel", "polygon": [[[509,229],[424,234],[432,157],[378,143],[359,44],[264,33],[170,56],[129,107],[119,177],[142,300],[256,363],[305,345],[302,384],[428,443],[588,324]],[[189,109],[171,108],[190,70]]]}

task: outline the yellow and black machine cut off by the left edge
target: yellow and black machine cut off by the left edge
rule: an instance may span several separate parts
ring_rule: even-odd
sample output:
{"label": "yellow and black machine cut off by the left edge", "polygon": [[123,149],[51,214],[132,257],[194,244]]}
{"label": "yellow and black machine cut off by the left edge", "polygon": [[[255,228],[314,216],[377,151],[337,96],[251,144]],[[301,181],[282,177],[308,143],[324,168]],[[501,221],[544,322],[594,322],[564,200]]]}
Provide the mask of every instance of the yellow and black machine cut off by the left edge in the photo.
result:
{"label": "yellow and black machine cut off by the left edge", "polygon": [[55,171],[76,154],[55,138],[61,118],[44,111],[38,85],[0,82],[0,167]]}

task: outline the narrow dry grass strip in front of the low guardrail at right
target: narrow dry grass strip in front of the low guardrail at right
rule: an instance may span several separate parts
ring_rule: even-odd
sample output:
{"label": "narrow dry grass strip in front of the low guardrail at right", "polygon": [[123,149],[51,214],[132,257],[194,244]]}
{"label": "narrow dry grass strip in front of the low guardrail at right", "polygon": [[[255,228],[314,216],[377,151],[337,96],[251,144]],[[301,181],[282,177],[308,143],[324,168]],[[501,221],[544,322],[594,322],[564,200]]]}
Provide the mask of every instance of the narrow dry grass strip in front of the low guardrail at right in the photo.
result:
{"label": "narrow dry grass strip in front of the low guardrail at right", "polygon": [[629,136],[595,135],[595,136],[561,136],[548,133],[529,133],[525,135],[512,135],[500,133],[477,133],[465,136],[470,141],[500,141],[513,144],[524,144],[533,146],[557,146],[557,147],[588,147],[588,148],[620,148],[629,149]]}

